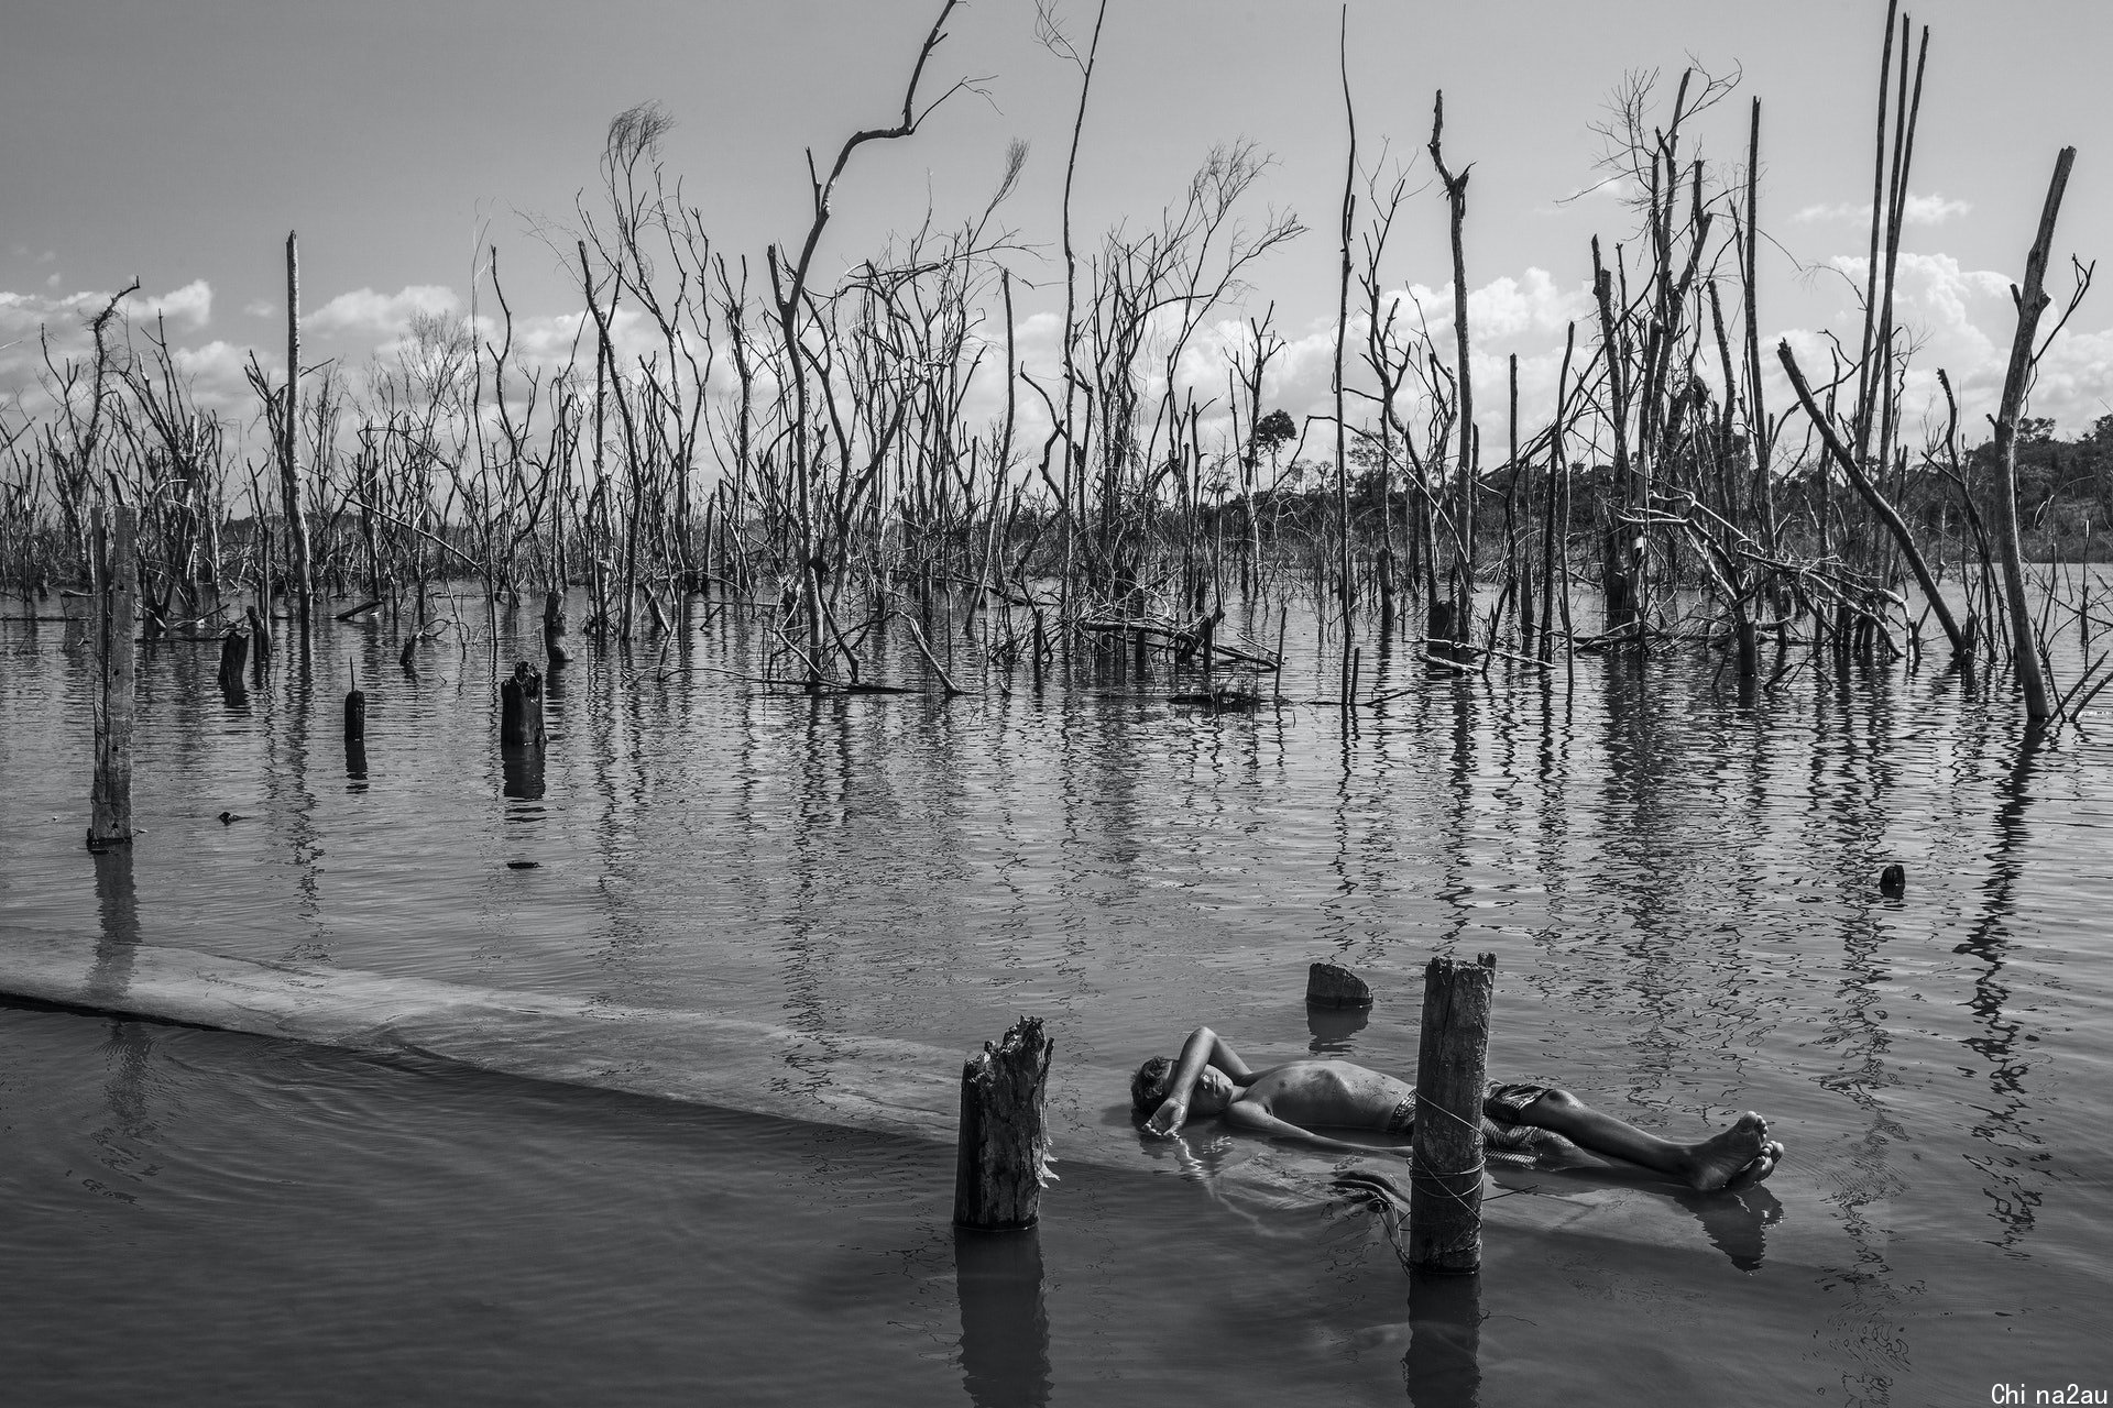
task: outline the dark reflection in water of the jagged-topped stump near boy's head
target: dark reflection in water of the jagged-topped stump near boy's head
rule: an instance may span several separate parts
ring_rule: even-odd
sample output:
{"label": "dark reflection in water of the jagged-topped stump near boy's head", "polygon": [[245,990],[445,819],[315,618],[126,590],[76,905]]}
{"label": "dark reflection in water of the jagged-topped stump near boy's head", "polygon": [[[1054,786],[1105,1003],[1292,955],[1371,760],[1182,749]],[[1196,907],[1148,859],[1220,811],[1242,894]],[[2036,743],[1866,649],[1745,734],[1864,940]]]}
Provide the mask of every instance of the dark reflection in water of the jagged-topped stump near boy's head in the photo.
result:
{"label": "dark reflection in water of the jagged-topped stump near boy's head", "polygon": [[1042,1300],[1042,1233],[953,1229],[961,1302],[961,1387],[976,1408],[1050,1402],[1050,1317]]}

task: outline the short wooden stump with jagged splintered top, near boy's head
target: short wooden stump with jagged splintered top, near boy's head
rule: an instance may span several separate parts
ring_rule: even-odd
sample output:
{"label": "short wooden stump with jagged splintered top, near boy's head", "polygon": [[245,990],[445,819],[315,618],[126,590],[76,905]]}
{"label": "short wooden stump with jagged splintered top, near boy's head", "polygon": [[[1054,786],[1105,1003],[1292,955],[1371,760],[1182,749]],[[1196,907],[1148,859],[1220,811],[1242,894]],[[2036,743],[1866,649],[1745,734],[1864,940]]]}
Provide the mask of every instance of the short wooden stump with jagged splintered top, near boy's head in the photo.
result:
{"label": "short wooden stump with jagged splintered top, near boy's head", "polygon": [[953,1163],[953,1222],[983,1231],[1033,1226],[1048,1178],[1042,1104],[1054,1043],[1042,1017],[1021,1017],[961,1066],[961,1134]]}

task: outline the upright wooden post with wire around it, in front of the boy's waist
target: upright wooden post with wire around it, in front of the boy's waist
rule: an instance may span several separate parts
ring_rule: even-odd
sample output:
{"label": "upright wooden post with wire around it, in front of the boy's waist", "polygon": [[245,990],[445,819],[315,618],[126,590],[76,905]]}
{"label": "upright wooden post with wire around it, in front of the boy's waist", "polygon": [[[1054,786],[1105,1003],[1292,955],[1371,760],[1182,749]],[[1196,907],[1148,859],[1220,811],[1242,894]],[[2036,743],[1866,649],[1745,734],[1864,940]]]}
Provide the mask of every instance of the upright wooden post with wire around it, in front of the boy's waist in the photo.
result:
{"label": "upright wooden post with wire around it, in front of the boy's waist", "polygon": [[1416,1051],[1416,1163],[1409,1176],[1409,1269],[1481,1269],[1481,1091],[1490,1058],[1496,954],[1424,967]]}

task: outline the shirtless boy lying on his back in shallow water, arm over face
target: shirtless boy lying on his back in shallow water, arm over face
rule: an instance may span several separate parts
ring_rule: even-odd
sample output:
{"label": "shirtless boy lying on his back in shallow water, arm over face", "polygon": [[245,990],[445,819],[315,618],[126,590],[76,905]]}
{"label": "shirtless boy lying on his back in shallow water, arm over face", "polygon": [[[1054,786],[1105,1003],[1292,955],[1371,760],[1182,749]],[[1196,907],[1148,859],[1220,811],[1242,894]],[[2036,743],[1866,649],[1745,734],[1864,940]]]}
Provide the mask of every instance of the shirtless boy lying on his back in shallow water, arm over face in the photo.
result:
{"label": "shirtless boy lying on his back in shallow water, arm over face", "polygon": [[[1335,1140],[1314,1134],[1312,1125],[1401,1136],[1416,1121],[1416,1087],[1407,1081],[1321,1060],[1251,1070],[1209,1026],[1190,1032],[1179,1062],[1156,1055],[1139,1066],[1130,1102],[1139,1115],[1152,1115],[1145,1129],[1160,1136],[1175,1134],[1192,1115],[1223,1115],[1236,1129],[1359,1155],[1405,1155],[1407,1148]],[[1783,1157],[1783,1146],[1769,1138],[1769,1121],[1754,1112],[1707,1140],[1676,1144],[1587,1108],[1566,1089],[1492,1083],[1483,1115],[1485,1131],[1490,1121],[1500,1131],[1507,1125],[1549,1129],[1587,1153],[1640,1163],[1703,1193],[1750,1188]]]}

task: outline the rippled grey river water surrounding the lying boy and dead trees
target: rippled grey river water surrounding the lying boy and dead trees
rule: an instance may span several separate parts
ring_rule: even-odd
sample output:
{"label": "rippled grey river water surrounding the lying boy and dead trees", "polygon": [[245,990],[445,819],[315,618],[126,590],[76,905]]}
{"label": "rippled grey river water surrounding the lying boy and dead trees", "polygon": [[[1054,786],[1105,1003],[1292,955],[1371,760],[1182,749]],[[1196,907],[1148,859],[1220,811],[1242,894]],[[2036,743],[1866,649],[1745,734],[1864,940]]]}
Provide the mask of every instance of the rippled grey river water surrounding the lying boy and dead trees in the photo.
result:
{"label": "rippled grey river water surrounding the lying boy and dead trees", "polygon": [[[957,1237],[945,1131],[818,1115],[826,1072],[780,1045],[716,1055],[742,1098],[693,1104],[8,1003],[8,1395],[2113,1389],[2113,692],[2088,732],[2033,741],[2003,688],[1936,665],[1794,657],[1743,703],[1699,648],[1454,678],[1392,640],[1363,676],[1395,695],[1346,724],[1171,705],[1160,659],[1137,680],[1082,654],[1037,692],[959,608],[932,635],[970,692],[805,699],[744,680],[763,612],[695,600],[630,654],[575,659],[541,777],[494,728],[528,612],[494,650],[465,602],[416,673],[387,623],[332,623],[306,669],[239,695],[211,646],[150,644],[144,834],[101,859],[80,844],[91,659],[0,621],[0,963],[70,948],[123,990],[148,944],[558,998],[606,1011],[613,1087],[625,1043],[647,1060],[636,1011],[904,1043],[942,1079],[1035,1013],[1067,1072],[1059,1157],[1084,1155],[1037,1233]],[[1310,602],[1234,616],[1268,646],[1285,629],[1283,695],[1333,692]],[[2081,648],[2060,642],[2062,680]],[[923,673],[894,642],[871,678]],[[1439,952],[1496,954],[1492,1074],[1673,1136],[1754,1108],[1788,1161],[1712,1197],[1504,1174],[1483,1273],[1411,1288],[1382,1229],[1327,1201],[1340,1159],[1130,1134],[1120,1072],[1198,1022],[1257,1064],[1411,1074]],[[1373,984],[1367,1020],[1306,1011],[1316,958]]]}

